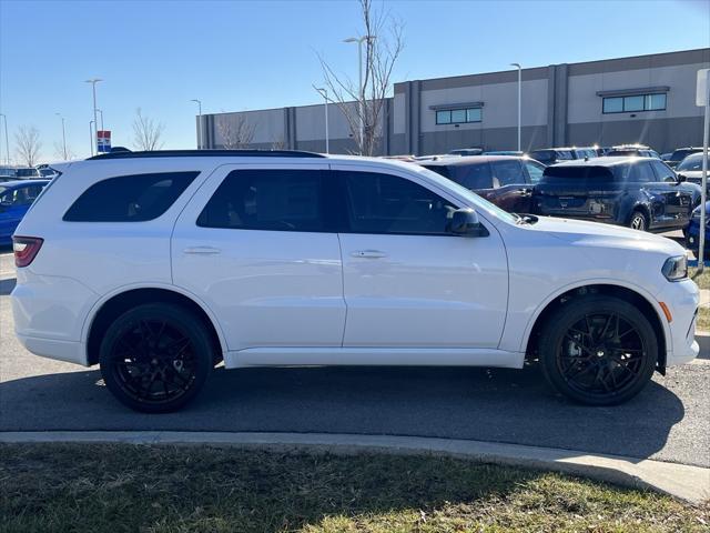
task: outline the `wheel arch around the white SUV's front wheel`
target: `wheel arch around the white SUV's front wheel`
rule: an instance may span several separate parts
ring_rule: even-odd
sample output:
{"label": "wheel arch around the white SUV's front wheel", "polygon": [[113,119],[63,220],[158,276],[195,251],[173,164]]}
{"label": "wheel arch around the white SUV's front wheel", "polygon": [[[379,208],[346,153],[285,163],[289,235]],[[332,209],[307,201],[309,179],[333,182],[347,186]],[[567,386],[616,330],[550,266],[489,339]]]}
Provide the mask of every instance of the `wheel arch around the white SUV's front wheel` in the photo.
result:
{"label": "wheel arch around the white SUV's front wheel", "polygon": [[663,312],[655,299],[646,293],[642,289],[633,285],[610,283],[607,280],[595,280],[580,282],[571,286],[566,286],[547,300],[545,300],[536,310],[529,320],[524,336],[524,349],[526,358],[532,358],[537,354],[537,343],[545,320],[564,302],[574,298],[581,298],[586,294],[607,294],[618,298],[636,305],[648,319],[656,332],[658,340],[658,365],[657,370],[665,374],[668,350],[672,348],[672,338],[670,328],[663,319]]}

